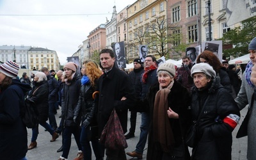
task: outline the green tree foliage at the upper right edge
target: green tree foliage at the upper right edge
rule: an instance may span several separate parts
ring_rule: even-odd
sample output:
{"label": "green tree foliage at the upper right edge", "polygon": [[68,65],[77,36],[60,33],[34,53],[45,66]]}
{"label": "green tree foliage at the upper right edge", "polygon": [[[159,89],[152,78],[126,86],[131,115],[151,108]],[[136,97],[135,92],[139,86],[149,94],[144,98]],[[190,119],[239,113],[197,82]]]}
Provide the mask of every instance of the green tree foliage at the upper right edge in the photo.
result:
{"label": "green tree foliage at the upper right edge", "polygon": [[256,16],[243,20],[242,26],[230,29],[219,40],[223,45],[232,44],[234,48],[223,50],[223,54],[229,56],[243,56],[248,53],[248,44],[256,36]]}

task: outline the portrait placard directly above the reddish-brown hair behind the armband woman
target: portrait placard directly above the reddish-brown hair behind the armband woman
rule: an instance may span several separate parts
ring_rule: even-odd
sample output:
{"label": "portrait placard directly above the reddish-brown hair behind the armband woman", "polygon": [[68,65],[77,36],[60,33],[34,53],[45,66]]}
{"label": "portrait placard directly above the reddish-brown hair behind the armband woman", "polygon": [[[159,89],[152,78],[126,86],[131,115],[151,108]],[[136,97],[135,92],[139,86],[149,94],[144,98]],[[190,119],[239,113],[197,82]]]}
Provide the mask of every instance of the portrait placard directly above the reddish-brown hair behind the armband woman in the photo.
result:
{"label": "portrait placard directly above the reddish-brown hair behind the armband woman", "polygon": [[202,42],[202,52],[205,50],[213,52],[222,63],[222,40]]}

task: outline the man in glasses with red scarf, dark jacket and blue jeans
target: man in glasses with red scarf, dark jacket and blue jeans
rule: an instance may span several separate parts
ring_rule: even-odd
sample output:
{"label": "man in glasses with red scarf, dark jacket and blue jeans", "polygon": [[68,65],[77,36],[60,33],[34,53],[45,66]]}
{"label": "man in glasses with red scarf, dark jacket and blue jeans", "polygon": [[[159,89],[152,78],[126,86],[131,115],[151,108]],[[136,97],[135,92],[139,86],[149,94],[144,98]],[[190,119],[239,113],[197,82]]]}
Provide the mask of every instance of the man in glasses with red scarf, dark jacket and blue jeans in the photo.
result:
{"label": "man in glasses with red scarf, dark jacket and blue jeans", "polygon": [[127,152],[126,154],[131,157],[137,157],[142,159],[143,151],[147,143],[148,127],[150,124],[149,106],[145,101],[149,88],[157,83],[157,60],[154,56],[148,55],[144,61],[144,72],[141,74],[140,79],[140,108],[141,112],[141,125],[140,125],[140,140],[136,145],[136,149],[133,152]]}

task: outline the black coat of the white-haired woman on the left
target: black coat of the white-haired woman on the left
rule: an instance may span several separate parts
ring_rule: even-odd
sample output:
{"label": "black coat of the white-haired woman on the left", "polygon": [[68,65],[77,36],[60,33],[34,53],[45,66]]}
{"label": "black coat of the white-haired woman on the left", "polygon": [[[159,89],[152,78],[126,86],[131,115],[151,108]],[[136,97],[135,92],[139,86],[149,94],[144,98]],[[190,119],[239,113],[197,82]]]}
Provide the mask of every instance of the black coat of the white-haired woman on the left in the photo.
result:
{"label": "black coat of the white-haired woman on the left", "polygon": [[33,87],[33,90],[30,92],[31,95],[29,95],[29,99],[33,100],[36,104],[36,108],[39,113],[39,123],[46,122],[48,120],[49,114],[49,84],[47,83],[47,81],[42,81],[40,83],[35,82],[34,84],[35,86]]}

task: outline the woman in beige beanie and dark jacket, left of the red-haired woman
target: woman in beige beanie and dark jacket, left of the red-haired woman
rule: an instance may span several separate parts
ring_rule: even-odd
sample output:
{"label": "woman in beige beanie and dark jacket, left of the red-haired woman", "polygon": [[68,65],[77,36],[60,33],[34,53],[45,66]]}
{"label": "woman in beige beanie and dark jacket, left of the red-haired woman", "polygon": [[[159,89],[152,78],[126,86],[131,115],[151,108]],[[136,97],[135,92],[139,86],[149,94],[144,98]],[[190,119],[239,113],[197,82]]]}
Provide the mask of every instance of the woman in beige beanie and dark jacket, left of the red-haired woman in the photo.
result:
{"label": "woman in beige beanie and dark jacket, left of the red-haired woman", "polygon": [[[79,106],[77,102],[79,100],[79,93],[81,88],[81,77],[77,75],[77,65],[74,62],[68,62],[64,65],[65,84],[63,86],[62,100],[61,100],[61,110],[63,111],[61,115],[61,125],[63,128],[63,153],[59,160],[68,159],[68,153],[71,145],[72,134],[75,137],[78,153],[77,156],[81,156],[82,146],[80,143],[81,136],[81,114],[79,111]],[[77,112],[78,111],[78,112]],[[76,115],[75,115],[76,113]]]}

